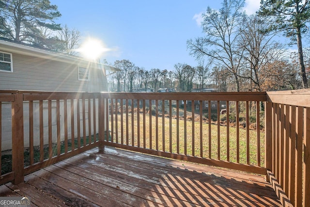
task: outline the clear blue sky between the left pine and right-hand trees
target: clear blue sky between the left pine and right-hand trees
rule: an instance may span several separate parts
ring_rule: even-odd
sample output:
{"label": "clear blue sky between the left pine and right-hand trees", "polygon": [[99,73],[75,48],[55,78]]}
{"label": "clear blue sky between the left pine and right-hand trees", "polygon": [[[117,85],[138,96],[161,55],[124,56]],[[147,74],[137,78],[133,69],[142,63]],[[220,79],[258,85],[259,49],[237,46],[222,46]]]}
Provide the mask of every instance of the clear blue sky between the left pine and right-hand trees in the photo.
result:
{"label": "clear blue sky between the left pine and right-hand trees", "polygon": [[[110,51],[102,55],[109,63],[129,59],[146,70],[173,70],[176,63],[197,66],[188,55],[186,40],[202,36],[199,19],[208,6],[220,0],[50,0],[67,24],[81,32],[82,40],[100,40]],[[253,13],[259,0],[246,0]]]}

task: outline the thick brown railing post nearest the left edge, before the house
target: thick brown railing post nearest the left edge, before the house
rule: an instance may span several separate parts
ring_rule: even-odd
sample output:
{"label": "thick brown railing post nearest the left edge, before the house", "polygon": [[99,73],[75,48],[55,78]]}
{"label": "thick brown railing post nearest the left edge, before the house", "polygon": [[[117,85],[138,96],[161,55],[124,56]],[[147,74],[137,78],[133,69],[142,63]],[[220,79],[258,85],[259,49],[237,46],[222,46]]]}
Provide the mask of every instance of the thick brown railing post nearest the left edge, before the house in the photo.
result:
{"label": "thick brown railing post nearest the left edge, before the house", "polygon": [[24,181],[24,115],[23,94],[14,94],[12,102],[12,171],[14,184]]}

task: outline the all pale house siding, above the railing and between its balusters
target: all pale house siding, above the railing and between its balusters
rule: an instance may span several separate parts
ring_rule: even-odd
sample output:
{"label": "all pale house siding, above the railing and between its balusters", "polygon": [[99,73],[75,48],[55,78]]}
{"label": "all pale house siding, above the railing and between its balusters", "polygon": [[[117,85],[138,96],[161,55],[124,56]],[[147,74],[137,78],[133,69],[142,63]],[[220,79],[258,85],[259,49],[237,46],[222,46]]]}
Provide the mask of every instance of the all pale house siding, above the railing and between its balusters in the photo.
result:
{"label": "all pale house siding, above the railing and between its balusters", "polygon": [[[0,71],[0,90],[32,90],[32,91],[85,91],[100,92],[108,90],[107,78],[104,71],[95,68],[95,63],[85,60],[73,59],[72,62],[59,61],[56,58],[39,58],[0,49],[2,52],[12,53],[13,73]],[[90,64],[90,65],[87,65]],[[78,66],[91,68],[90,81],[78,80]],[[47,103],[44,103],[45,105]],[[54,106],[56,103],[52,103]],[[70,115],[70,103],[68,102],[68,116]],[[81,107],[81,104],[80,104]],[[29,147],[29,103],[24,103],[24,143]],[[38,103],[34,102],[34,145],[39,145],[39,118]],[[63,129],[63,101],[61,111],[61,139],[64,139]],[[93,113],[93,105],[91,105]],[[80,110],[80,113],[82,109]],[[86,103],[86,134],[88,135],[88,109]],[[96,110],[98,112],[98,110]],[[56,109],[52,108],[52,134],[53,142],[57,141]],[[76,113],[76,112],[75,112]],[[77,137],[77,115],[75,114],[75,137]],[[83,116],[80,114],[80,119]],[[98,120],[98,114],[96,114]],[[48,143],[47,108],[44,109],[44,144]],[[12,148],[12,126],[11,126],[11,103],[2,103],[2,150]],[[91,118],[93,122],[93,116]],[[80,120],[81,136],[82,120]],[[96,133],[98,133],[98,121],[96,121]],[[93,129],[92,129],[93,130]],[[93,131],[92,131],[93,134]],[[71,139],[71,119],[68,117],[68,138]]]}

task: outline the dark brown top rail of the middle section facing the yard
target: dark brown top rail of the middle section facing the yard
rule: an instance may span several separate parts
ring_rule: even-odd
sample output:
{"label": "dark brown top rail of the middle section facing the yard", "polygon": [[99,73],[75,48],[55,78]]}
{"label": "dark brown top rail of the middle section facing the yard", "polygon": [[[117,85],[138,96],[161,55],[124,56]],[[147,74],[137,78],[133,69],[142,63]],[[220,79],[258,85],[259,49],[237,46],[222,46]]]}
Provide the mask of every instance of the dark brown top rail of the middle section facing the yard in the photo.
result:
{"label": "dark brown top rail of the middle section facing the yard", "polygon": [[112,99],[197,100],[197,101],[265,101],[265,92],[104,92]]}

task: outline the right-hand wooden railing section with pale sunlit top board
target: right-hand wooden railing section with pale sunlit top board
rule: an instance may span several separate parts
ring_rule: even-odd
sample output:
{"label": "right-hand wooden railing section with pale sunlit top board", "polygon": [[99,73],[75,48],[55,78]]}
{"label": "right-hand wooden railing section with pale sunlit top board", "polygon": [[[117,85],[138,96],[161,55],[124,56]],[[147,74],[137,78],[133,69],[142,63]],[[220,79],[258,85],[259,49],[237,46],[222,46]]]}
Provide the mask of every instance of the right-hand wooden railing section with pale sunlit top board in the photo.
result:
{"label": "right-hand wooden railing section with pale sunlit top board", "polygon": [[[310,90],[267,92],[266,168],[285,205],[310,206]],[[278,191],[283,189],[285,194]]]}

